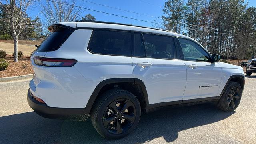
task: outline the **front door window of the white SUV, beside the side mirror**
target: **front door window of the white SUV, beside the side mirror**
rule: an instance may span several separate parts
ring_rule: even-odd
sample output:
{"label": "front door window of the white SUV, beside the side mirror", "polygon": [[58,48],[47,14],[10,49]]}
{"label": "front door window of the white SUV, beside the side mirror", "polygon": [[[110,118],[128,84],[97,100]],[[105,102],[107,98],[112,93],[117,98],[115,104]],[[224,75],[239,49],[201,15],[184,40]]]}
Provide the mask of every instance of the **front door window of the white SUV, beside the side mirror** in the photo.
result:
{"label": "front door window of the white SUV, beside the side mirror", "polygon": [[209,54],[198,44],[191,40],[179,38],[185,60],[210,62]]}

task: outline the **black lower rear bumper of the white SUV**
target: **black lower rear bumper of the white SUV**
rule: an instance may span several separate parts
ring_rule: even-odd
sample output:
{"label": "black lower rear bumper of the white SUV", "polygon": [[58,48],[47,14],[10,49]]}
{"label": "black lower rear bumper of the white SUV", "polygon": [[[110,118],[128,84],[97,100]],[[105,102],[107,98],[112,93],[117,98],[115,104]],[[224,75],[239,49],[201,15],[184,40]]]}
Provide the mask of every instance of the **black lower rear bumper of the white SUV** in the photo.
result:
{"label": "black lower rear bumper of the white SUV", "polygon": [[69,119],[85,121],[90,116],[91,107],[85,108],[54,108],[49,107],[45,103],[38,102],[33,98],[30,89],[28,89],[27,100],[29,106],[36,112],[36,114],[44,118],[52,119]]}

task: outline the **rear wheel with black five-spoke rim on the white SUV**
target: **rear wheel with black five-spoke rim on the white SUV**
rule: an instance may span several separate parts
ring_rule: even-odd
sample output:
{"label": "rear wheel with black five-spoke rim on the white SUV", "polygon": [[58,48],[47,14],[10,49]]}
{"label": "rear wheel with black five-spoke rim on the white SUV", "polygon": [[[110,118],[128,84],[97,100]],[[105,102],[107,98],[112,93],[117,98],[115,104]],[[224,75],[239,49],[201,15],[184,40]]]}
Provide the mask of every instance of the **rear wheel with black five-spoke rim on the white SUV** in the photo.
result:
{"label": "rear wheel with black five-spoke rim on the white SUV", "polygon": [[104,92],[96,100],[92,124],[104,138],[118,139],[128,135],[140,120],[140,102],[132,93],[122,89]]}

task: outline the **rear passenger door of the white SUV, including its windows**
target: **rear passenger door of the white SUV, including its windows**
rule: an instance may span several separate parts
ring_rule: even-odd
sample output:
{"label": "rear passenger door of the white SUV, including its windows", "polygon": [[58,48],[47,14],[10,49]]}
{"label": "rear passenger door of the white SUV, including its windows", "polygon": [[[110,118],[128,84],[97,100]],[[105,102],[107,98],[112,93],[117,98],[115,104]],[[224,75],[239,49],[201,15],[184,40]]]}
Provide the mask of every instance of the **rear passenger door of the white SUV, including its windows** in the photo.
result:
{"label": "rear passenger door of the white SUV, including its windows", "polygon": [[134,33],[134,78],[144,82],[149,104],[181,103],[186,86],[186,66],[176,58],[173,37]]}

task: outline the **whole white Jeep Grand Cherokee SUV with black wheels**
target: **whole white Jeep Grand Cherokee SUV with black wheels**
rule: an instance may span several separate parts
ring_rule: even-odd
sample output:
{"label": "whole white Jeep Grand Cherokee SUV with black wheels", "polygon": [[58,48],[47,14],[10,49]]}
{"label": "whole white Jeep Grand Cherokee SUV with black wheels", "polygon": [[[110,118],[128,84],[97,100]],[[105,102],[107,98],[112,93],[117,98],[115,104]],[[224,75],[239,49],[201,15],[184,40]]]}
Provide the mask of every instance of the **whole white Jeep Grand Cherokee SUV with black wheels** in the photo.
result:
{"label": "whole white Jeep Grand Cherokee SUV with black wheels", "polygon": [[141,112],[202,102],[231,112],[240,103],[243,69],[188,36],[98,21],[48,30],[31,56],[28,104],[40,116],[92,116],[97,132],[114,139],[134,130]]}

